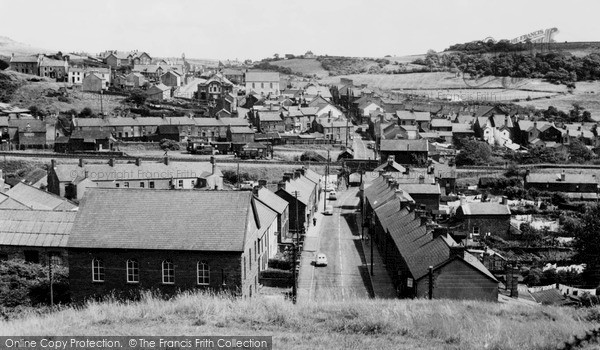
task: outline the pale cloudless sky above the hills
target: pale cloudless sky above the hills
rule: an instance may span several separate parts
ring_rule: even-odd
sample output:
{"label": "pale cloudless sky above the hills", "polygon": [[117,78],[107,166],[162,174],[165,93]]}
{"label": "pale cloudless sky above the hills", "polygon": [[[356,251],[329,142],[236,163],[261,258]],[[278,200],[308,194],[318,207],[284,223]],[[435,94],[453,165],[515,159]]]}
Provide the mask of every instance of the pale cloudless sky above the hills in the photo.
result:
{"label": "pale cloudless sky above the hills", "polygon": [[34,47],[153,57],[405,56],[552,27],[556,41],[600,41],[596,0],[0,0],[0,12],[0,36]]}

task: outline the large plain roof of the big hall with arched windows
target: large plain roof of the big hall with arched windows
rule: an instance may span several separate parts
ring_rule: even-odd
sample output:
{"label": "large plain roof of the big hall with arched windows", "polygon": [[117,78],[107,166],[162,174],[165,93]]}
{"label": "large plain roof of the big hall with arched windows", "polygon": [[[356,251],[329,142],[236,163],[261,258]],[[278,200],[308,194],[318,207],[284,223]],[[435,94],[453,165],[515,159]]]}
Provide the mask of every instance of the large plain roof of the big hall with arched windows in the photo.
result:
{"label": "large plain roof of the big hall with arched windows", "polygon": [[251,201],[250,191],[92,188],[68,247],[242,252]]}

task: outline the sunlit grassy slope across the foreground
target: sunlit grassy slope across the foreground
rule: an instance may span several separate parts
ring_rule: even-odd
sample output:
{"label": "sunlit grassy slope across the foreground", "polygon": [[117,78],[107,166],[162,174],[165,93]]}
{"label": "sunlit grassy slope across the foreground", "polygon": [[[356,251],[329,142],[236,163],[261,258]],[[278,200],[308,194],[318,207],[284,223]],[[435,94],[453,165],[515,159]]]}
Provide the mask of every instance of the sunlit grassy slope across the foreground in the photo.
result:
{"label": "sunlit grassy slope across the foreground", "polygon": [[184,294],[89,303],[0,322],[0,335],[267,335],[274,349],[554,349],[598,309],[446,300],[322,300]]}

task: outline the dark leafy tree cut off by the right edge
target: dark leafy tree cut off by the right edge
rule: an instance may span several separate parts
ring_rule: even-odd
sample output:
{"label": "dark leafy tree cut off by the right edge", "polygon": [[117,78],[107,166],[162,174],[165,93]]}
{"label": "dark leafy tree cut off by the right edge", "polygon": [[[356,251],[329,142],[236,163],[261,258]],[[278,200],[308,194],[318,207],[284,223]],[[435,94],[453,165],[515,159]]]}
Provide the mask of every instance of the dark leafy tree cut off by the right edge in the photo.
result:
{"label": "dark leafy tree cut off by the right edge", "polygon": [[583,280],[595,287],[600,281],[600,205],[588,207],[581,218],[581,225],[576,225],[575,229],[572,235],[575,237],[576,258],[587,265]]}

